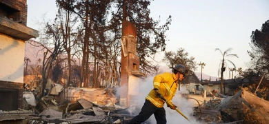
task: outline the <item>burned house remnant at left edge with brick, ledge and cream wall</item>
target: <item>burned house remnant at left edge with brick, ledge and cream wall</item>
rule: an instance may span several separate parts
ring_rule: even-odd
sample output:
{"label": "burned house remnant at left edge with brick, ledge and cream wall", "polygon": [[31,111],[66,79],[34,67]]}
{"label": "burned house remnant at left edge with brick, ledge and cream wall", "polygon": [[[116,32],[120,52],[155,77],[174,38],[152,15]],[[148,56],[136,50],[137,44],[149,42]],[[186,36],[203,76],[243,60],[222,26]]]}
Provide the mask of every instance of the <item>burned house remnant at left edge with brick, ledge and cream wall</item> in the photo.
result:
{"label": "burned house remnant at left edge with brick, ledge and cream wall", "polygon": [[25,41],[38,37],[28,28],[26,0],[0,1],[0,110],[23,108]]}

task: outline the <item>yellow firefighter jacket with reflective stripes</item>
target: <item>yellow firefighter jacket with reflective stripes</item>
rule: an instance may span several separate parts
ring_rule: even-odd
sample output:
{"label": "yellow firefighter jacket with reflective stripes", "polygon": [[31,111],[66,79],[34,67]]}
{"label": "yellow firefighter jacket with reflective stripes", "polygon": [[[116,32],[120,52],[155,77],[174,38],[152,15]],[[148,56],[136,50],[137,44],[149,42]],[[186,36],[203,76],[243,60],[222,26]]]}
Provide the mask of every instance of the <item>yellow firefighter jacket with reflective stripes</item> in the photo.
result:
{"label": "yellow firefighter jacket with reflective stripes", "polygon": [[[175,96],[178,87],[174,73],[164,72],[162,74],[156,75],[153,79],[153,86],[154,88],[159,89],[159,92],[164,97],[164,99],[166,99],[166,101],[172,103],[172,98]],[[146,99],[156,107],[163,107],[165,103],[165,101],[156,96],[154,89],[148,93]]]}

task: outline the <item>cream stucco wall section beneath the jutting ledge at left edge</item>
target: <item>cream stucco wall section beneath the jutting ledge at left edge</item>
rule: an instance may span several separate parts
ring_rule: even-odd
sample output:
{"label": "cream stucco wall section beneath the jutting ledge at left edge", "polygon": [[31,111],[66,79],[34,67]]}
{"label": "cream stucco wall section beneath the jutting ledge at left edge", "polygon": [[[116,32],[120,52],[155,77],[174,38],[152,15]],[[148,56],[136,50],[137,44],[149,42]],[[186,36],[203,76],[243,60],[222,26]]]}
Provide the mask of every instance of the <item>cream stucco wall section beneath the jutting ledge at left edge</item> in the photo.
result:
{"label": "cream stucco wall section beneath the jutting ledge at left edge", "polygon": [[0,81],[23,83],[25,41],[0,34]]}

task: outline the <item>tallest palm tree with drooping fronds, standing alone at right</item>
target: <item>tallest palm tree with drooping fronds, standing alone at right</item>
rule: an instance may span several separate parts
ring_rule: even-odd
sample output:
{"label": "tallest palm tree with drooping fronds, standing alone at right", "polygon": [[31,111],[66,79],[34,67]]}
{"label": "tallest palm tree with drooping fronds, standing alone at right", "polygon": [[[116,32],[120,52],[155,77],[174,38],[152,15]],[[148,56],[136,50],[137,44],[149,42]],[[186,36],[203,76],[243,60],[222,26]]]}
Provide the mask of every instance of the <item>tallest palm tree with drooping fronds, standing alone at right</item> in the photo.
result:
{"label": "tallest palm tree with drooping fronds, standing alone at right", "polygon": [[[216,50],[219,50],[219,48],[216,48],[215,51],[216,51]],[[227,61],[230,62],[230,63],[232,63],[232,61],[226,59],[226,57],[228,57],[228,56],[236,56],[237,58],[239,58],[239,57],[237,56],[237,54],[229,54],[229,52],[230,52],[231,50],[232,50],[232,48],[228,48],[228,49],[227,49],[226,51],[224,51],[224,52],[221,52],[221,50],[219,50],[219,52],[221,52],[221,56],[222,56],[222,58],[221,58],[221,94],[223,94],[223,72],[225,72],[225,70],[226,70],[226,66],[225,66],[225,64],[227,65]],[[232,65],[233,65],[234,68],[235,68],[235,63],[232,63]]]}

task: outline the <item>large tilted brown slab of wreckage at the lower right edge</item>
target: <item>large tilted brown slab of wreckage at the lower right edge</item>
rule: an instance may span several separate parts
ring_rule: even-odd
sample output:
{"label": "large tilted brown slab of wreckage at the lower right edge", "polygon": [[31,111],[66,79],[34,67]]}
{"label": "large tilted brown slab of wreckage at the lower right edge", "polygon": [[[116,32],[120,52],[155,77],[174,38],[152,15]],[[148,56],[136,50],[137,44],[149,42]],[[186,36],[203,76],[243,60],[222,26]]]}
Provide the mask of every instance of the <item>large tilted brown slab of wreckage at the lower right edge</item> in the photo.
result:
{"label": "large tilted brown slab of wreckage at the lower right edge", "polygon": [[268,123],[269,102],[241,89],[234,96],[223,99],[219,110],[226,118],[243,123]]}

